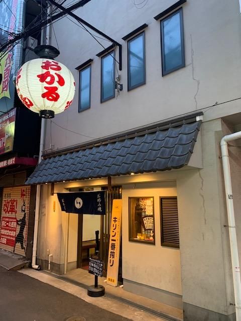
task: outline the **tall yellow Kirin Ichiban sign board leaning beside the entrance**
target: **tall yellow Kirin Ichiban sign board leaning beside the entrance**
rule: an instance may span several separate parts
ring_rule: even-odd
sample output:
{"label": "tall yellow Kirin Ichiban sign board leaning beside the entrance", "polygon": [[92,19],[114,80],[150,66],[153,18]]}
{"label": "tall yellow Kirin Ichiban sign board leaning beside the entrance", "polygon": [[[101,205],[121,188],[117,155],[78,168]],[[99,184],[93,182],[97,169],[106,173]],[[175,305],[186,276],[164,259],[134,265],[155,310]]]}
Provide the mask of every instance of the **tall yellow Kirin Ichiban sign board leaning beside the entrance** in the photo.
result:
{"label": "tall yellow Kirin Ichiban sign board leaning beside the entrance", "polygon": [[107,265],[107,284],[117,286],[119,250],[122,235],[122,200],[113,200],[111,226],[109,236],[109,252]]}

